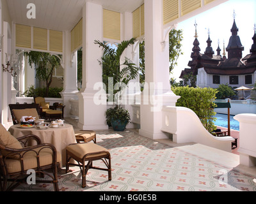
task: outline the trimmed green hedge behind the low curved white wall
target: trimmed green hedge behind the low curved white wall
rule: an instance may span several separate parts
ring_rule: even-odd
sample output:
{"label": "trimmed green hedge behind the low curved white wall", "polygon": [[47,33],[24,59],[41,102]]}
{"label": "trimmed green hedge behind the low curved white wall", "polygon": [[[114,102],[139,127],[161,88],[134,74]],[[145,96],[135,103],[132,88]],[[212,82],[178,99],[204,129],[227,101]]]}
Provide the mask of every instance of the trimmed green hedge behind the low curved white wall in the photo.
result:
{"label": "trimmed green hedge behind the low curved white wall", "polygon": [[194,88],[194,87],[172,87],[172,91],[180,96],[176,105],[183,106],[193,110],[201,120],[205,129],[210,133],[216,129],[214,126],[214,106],[216,99],[216,89],[212,88]]}

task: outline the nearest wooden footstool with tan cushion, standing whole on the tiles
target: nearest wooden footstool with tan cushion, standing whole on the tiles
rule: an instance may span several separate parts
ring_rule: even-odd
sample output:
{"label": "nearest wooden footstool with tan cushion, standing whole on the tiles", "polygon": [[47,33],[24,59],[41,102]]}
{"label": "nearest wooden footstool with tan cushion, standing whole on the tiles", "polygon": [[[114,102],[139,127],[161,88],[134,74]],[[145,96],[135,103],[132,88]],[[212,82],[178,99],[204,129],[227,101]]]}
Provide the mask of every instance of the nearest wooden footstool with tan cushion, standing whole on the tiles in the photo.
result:
{"label": "nearest wooden footstool with tan cushion, standing whole on the tiles", "polygon": [[[82,173],[82,187],[86,187],[86,174],[90,168],[108,171],[108,180],[111,180],[111,156],[107,149],[95,143],[76,143],[67,146],[66,173],[69,166],[79,166]],[[74,159],[78,164],[70,163]],[[101,159],[107,168],[92,166],[92,161]],[[88,161],[85,164],[85,161]]]}

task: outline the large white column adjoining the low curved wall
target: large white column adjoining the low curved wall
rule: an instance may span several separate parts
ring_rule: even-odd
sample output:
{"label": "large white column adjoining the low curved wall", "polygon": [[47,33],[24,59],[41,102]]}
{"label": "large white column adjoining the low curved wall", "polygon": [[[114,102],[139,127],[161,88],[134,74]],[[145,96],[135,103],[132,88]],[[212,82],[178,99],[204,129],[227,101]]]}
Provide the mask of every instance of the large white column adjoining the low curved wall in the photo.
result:
{"label": "large white column adjoining the low curved wall", "polygon": [[141,93],[140,134],[148,138],[166,138],[161,131],[163,105],[175,106],[179,96],[169,81],[168,41],[163,30],[162,0],[145,1],[145,88]]}

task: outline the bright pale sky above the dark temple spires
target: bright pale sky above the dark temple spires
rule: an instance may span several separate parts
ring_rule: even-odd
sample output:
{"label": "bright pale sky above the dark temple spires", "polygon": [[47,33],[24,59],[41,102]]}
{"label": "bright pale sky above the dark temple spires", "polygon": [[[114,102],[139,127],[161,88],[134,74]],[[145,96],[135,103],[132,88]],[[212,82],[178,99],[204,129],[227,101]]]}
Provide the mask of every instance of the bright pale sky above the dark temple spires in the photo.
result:
{"label": "bright pale sky above the dark temple spires", "polygon": [[[200,53],[204,54],[207,47],[208,30],[210,32],[210,38],[212,40],[212,49],[214,55],[217,54],[218,41],[220,41],[221,55],[223,54],[223,42],[225,47],[228,45],[229,38],[231,36],[231,27],[234,22],[233,14],[235,12],[236,25],[239,29],[238,36],[241,43],[244,46],[243,57],[250,54],[250,48],[253,44],[254,24],[256,24],[256,0],[229,0],[207,10],[204,13],[200,13],[195,17],[189,18],[180,22],[177,29],[183,30],[182,40],[182,52],[180,55],[177,66],[173,69],[173,75],[176,82],[181,79],[180,73],[185,68],[189,68],[188,62],[191,61],[191,52],[193,48],[193,42],[195,40],[195,22],[197,24],[196,30],[198,34],[198,41],[201,48]],[[227,56],[227,51],[226,56]]]}

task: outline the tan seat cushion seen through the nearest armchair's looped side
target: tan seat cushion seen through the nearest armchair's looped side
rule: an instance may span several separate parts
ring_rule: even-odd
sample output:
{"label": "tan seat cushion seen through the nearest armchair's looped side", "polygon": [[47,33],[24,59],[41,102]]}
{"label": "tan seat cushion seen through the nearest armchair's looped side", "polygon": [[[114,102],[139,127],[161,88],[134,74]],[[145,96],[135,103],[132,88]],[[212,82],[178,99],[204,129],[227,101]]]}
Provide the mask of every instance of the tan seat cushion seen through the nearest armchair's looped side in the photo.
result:
{"label": "tan seat cushion seen through the nearest armchair's looped side", "polygon": [[[35,149],[36,152],[44,147]],[[27,152],[24,156],[24,170],[29,170],[37,167],[36,153]],[[49,148],[44,148],[39,154],[40,166],[46,166],[52,164],[52,150]],[[61,162],[61,154],[57,152],[57,162]],[[16,173],[21,171],[20,159],[6,159],[6,167],[8,173]]]}

